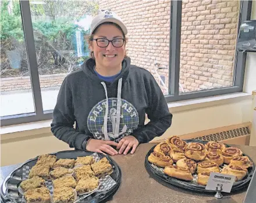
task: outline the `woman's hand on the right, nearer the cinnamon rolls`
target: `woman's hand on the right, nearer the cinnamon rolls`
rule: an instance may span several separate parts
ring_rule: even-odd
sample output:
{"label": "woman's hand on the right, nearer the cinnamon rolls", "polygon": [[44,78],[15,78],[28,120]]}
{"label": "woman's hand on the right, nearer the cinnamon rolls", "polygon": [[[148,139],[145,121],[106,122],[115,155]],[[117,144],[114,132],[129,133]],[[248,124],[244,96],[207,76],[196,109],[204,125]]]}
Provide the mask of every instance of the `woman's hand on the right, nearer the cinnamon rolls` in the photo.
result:
{"label": "woman's hand on the right, nearer the cinnamon rolls", "polygon": [[138,140],[133,136],[126,136],[119,141],[118,147],[116,148],[119,149],[119,154],[123,153],[124,155],[126,155],[129,152],[130,148],[132,148],[130,154],[133,154],[137,147]]}

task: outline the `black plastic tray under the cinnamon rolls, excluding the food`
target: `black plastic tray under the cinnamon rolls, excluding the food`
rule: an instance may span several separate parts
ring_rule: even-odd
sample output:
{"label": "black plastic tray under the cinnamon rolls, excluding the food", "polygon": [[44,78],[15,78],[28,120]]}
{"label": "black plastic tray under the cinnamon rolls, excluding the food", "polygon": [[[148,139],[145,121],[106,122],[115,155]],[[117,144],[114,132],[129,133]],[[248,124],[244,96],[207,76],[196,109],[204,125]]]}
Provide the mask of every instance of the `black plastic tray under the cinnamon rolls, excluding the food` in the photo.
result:
{"label": "black plastic tray under the cinnamon rolls, excluding the food", "polygon": [[[202,144],[208,143],[208,141],[203,141],[203,140],[184,140],[184,141],[186,141],[187,143],[202,143]],[[226,144],[226,147],[230,147],[230,146]],[[152,163],[148,162],[148,156],[150,156],[150,154],[154,151],[154,148],[155,146],[150,149],[150,151],[147,153],[145,157],[145,169],[155,180],[163,180],[168,184],[171,184],[180,188],[188,189],[188,190],[193,190],[198,192],[207,192],[207,193],[216,193],[215,191],[212,191],[212,190],[205,190],[206,186],[202,186],[193,181],[179,180],[179,179],[176,179],[175,177],[170,177],[162,173],[160,170],[158,170],[157,167],[155,168],[152,167]],[[243,156],[248,156],[248,155],[243,154]],[[255,165],[253,160],[250,158],[250,156],[248,156],[248,158],[253,163],[253,167],[248,168],[248,174],[246,177],[244,177],[243,180],[234,182],[231,191],[240,190],[241,188],[248,186],[248,184],[250,183],[251,177],[253,176],[253,172],[255,170]]]}

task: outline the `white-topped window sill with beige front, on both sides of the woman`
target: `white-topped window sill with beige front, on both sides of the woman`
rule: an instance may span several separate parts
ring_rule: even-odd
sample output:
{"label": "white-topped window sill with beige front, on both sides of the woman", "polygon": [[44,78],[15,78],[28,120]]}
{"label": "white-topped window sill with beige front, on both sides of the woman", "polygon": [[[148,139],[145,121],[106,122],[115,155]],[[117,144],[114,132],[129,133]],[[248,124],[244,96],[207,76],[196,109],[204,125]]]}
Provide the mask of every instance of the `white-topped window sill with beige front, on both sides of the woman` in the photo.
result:
{"label": "white-topped window sill with beige front, on both sides of the woman", "polygon": [[[188,111],[191,109],[204,108],[207,106],[223,105],[243,99],[252,99],[252,95],[245,92],[218,95],[214,97],[189,99],[186,101],[170,102],[168,108],[170,112]],[[41,122],[17,124],[13,126],[1,127],[1,140],[9,140],[17,137],[35,136],[38,134],[51,133],[52,120]],[[147,121],[146,121],[147,122]]]}

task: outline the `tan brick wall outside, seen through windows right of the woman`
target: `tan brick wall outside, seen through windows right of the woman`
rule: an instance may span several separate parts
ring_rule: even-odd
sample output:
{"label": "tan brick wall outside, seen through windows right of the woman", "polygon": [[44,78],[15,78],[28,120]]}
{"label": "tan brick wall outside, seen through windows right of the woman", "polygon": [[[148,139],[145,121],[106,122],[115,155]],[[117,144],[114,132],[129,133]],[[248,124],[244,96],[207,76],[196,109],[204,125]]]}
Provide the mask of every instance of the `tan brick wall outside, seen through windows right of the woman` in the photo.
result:
{"label": "tan brick wall outside, seen through windows right of the woman", "polygon": [[[180,84],[184,91],[232,86],[239,1],[190,0],[182,6]],[[170,0],[100,0],[99,8],[118,13],[129,31],[131,62],[149,70],[159,83],[155,61],[169,67]],[[158,73],[168,84],[168,69]]]}

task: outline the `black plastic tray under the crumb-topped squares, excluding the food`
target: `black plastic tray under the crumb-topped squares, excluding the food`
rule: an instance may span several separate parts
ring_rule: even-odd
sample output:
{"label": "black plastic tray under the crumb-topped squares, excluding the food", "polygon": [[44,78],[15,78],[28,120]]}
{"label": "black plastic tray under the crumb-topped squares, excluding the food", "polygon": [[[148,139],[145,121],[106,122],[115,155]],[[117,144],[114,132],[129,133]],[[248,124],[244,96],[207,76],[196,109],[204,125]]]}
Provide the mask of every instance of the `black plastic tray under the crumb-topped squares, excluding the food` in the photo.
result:
{"label": "black plastic tray under the crumb-topped squares, excluding the food", "polygon": [[[76,159],[78,156],[89,156],[91,154],[93,154],[93,152],[73,151],[73,150],[52,153],[52,155],[57,156],[58,159],[61,159],[61,158]],[[112,177],[113,180],[116,181],[116,184],[109,190],[93,193],[90,196],[84,198],[82,201],[78,201],[78,202],[83,202],[83,203],[104,202],[106,198],[115,194],[120,186],[122,173],[118,164],[107,155],[103,155],[103,154],[98,154],[98,155],[99,155],[99,158],[106,157],[108,161],[111,163],[111,165],[113,166],[113,173],[111,173],[110,176]],[[20,194],[18,191],[19,184],[22,182],[22,173],[23,173],[22,168],[24,165],[27,165],[30,167],[34,166],[35,163],[37,162],[37,158],[38,156],[34,159],[30,159],[29,161],[23,163],[22,166],[20,166],[16,170],[13,170],[13,172],[6,177],[6,179],[3,181],[3,184],[1,186],[1,202],[13,202],[13,203],[22,202],[22,194]]]}

